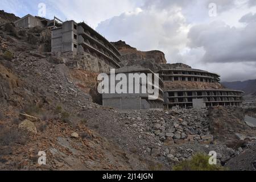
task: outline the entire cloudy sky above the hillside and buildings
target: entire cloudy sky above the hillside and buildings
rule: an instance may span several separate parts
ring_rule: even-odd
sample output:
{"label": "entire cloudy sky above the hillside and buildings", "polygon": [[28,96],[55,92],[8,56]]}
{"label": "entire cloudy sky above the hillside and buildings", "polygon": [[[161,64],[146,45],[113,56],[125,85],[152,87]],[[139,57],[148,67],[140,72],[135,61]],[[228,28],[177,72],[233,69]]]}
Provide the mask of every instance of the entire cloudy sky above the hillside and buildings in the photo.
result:
{"label": "entire cloudy sky above the hillside and buildings", "polygon": [[221,75],[222,81],[256,79],[256,0],[1,0],[18,16],[84,21],[110,41],[142,51],[163,51]]}

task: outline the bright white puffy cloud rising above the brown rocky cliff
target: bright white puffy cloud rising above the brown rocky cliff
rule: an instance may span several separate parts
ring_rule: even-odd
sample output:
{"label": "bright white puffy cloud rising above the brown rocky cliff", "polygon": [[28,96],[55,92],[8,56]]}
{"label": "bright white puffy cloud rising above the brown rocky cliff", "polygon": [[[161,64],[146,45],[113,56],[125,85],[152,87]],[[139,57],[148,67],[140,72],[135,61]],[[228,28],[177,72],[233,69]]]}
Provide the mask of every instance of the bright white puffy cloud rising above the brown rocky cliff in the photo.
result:
{"label": "bright white puffy cloud rising above the brown rocky cliff", "polygon": [[179,7],[165,10],[147,8],[123,13],[101,22],[97,31],[112,41],[125,40],[142,51],[160,49],[172,60],[182,59],[189,25]]}

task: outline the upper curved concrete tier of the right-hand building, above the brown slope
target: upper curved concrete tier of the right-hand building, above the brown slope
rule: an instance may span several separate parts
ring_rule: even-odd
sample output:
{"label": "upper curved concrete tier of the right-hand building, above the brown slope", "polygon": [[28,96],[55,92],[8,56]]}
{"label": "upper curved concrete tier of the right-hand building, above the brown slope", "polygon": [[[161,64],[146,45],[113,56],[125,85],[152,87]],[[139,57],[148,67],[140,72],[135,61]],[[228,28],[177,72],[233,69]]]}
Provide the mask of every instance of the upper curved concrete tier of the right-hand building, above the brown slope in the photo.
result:
{"label": "upper curved concrete tier of the right-hand building, above the brown slope", "polygon": [[163,81],[220,82],[220,75],[200,69],[161,69],[158,73]]}

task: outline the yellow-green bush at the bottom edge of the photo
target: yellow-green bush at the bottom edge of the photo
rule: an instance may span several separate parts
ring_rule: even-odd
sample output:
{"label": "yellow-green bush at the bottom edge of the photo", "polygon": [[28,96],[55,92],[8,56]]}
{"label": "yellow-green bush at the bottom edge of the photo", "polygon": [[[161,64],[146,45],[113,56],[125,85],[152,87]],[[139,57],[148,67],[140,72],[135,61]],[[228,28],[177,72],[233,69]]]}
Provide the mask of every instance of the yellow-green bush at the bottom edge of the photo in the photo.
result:
{"label": "yellow-green bush at the bottom edge of the photo", "polygon": [[184,160],[172,168],[173,171],[225,171],[225,168],[219,165],[209,164],[210,156],[196,154],[191,160]]}

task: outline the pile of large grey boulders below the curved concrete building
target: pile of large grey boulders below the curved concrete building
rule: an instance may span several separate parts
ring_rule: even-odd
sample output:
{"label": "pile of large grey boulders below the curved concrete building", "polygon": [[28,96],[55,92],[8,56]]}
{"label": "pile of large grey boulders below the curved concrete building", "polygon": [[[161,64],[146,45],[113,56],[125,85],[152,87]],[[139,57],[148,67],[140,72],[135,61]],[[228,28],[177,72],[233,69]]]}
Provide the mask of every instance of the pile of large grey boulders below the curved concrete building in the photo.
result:
{"label": "pile of large grey boulders below the curved concrete building", "polygon": [[172,111],[146,111],[142,114],[128,112],[130,129],[150,132],[160,144],[181,144],[189,141],[213,142],[209,132],[207,110],[176,109]]}

